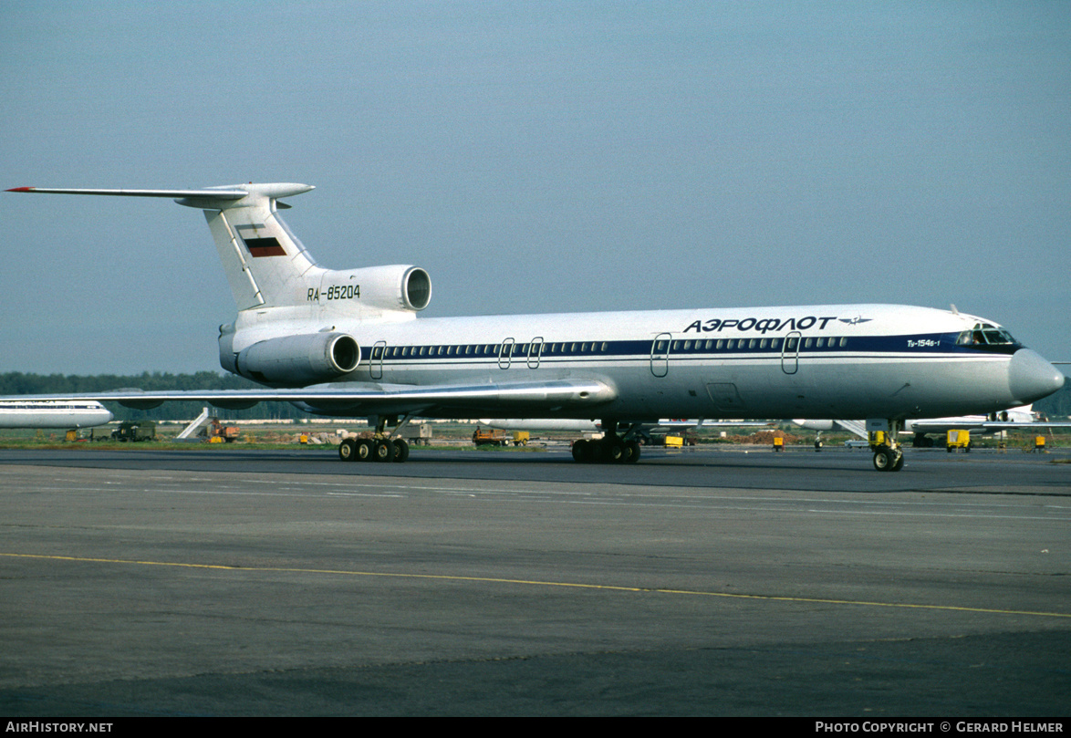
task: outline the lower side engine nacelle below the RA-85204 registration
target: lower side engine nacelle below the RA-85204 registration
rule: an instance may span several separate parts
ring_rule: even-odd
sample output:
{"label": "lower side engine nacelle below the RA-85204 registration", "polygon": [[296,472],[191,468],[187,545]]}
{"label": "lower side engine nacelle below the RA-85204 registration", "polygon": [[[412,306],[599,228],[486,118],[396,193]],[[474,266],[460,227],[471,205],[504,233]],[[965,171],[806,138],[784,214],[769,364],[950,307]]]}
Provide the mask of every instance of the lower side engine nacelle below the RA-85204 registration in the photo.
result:
{"label": "lower side engine nacelle below the RA-85204 registration", "polygon": [[361,363],[361,347],[353,336],[345,333],[268,338],[242,349],[237,356],[224,350],[227,347],[223,338],[221,336],[220,361],[224,368],[263,385],[302,386],[329,381],[352,372]]}

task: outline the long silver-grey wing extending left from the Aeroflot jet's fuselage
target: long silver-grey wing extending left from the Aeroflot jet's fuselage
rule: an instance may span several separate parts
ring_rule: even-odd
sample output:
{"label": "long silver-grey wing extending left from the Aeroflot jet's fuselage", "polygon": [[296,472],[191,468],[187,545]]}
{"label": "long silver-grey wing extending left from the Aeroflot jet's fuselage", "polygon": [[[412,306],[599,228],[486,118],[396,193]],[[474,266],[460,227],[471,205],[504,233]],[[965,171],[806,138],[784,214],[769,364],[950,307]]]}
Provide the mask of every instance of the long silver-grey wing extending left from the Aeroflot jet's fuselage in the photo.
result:
{"label": "long silver-grey wing extending left from the Aeroflot jet's fuselage", "polygon": [[558,379],[471,385],[387,385],[337,382],[300,389],[182,390],[137,389],[81,394],[14,395],[9,400],[96,400],[141,410],[166,402],[207,402],[226,409],[244,409],[262,402],[304,403],[328,416],[449,412],[550,412],[594,407],[617,397],[617,390],[598,380]]}

